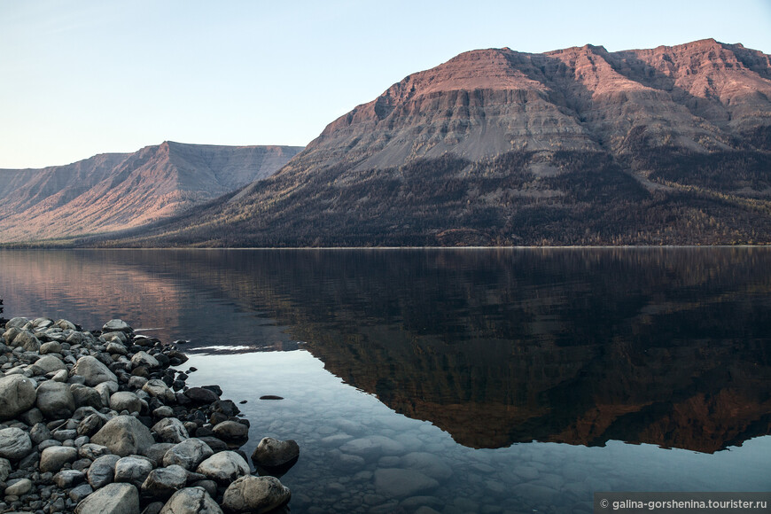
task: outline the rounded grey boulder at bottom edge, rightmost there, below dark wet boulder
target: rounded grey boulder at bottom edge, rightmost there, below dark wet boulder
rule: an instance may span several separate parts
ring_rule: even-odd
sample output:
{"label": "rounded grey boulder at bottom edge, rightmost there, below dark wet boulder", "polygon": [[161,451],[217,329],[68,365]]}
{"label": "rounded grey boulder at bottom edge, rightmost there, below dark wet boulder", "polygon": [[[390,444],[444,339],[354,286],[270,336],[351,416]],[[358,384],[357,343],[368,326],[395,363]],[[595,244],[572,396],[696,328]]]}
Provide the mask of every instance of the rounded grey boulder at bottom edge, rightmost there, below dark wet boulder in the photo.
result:
{"label": "rounded grey boulder at bottom edge, rightmost there, below dark wet boulder", "polygon": [[288,502],[292,493],[276,477],[247,475],[225,490],[222,505],[231,512],[269,512]]}

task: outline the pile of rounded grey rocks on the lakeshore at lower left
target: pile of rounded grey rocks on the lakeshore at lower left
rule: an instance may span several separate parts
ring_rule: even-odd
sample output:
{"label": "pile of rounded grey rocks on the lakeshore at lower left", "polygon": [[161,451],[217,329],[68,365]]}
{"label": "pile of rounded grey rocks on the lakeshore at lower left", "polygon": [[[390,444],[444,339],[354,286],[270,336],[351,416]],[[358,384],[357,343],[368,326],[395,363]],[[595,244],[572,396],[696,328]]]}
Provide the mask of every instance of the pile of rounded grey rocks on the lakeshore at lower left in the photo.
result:
{"label": "pile of rounded grey rocks on the lakeshore at lower left", "polygon": [[268,512],[290,491],[293,440],[265,438],[252,461],[249,422],[175,345],[112,320],[15,317],[0,338],[0,513]]}

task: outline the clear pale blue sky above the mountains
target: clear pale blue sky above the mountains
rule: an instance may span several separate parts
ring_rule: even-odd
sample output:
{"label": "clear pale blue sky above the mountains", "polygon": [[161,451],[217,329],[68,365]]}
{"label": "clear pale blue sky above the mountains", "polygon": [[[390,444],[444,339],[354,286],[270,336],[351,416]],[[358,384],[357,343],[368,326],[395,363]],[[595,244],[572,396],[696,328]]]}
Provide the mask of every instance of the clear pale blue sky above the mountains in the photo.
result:
{"label": "clear pale blue sky above the mountains", "polygon": [[0,168],[165,140],[308,144],[463,51],[771,53],[771,0],[0,0]]}

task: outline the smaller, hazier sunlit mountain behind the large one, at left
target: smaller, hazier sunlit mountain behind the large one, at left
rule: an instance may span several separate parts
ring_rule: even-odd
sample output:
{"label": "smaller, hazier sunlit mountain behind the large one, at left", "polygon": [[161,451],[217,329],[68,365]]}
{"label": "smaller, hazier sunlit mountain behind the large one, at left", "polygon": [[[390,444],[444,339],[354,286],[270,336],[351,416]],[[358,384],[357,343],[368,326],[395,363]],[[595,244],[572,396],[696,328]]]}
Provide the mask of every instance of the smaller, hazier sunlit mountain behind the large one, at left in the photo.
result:
{"label": "smaller, hazier sunlit mountain behind the large one, at left", "polygon": [[0,242],[142,227],[265,178],[300,150],[167,141],[67,166],[0,170]]}

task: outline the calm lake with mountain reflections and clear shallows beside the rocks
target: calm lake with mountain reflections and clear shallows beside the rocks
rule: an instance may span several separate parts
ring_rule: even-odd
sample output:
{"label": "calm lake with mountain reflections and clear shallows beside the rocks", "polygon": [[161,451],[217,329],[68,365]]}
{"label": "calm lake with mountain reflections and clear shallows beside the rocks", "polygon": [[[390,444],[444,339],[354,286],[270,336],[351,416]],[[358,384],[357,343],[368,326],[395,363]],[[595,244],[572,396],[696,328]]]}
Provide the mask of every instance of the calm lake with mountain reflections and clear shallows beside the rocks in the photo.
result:
{"label": "calm lake with mountain reflections and clear shallows beside the rocks", "polygon": [[292,512],[771,488],[771,248],[9,250],[0,298],[188,339]]}

